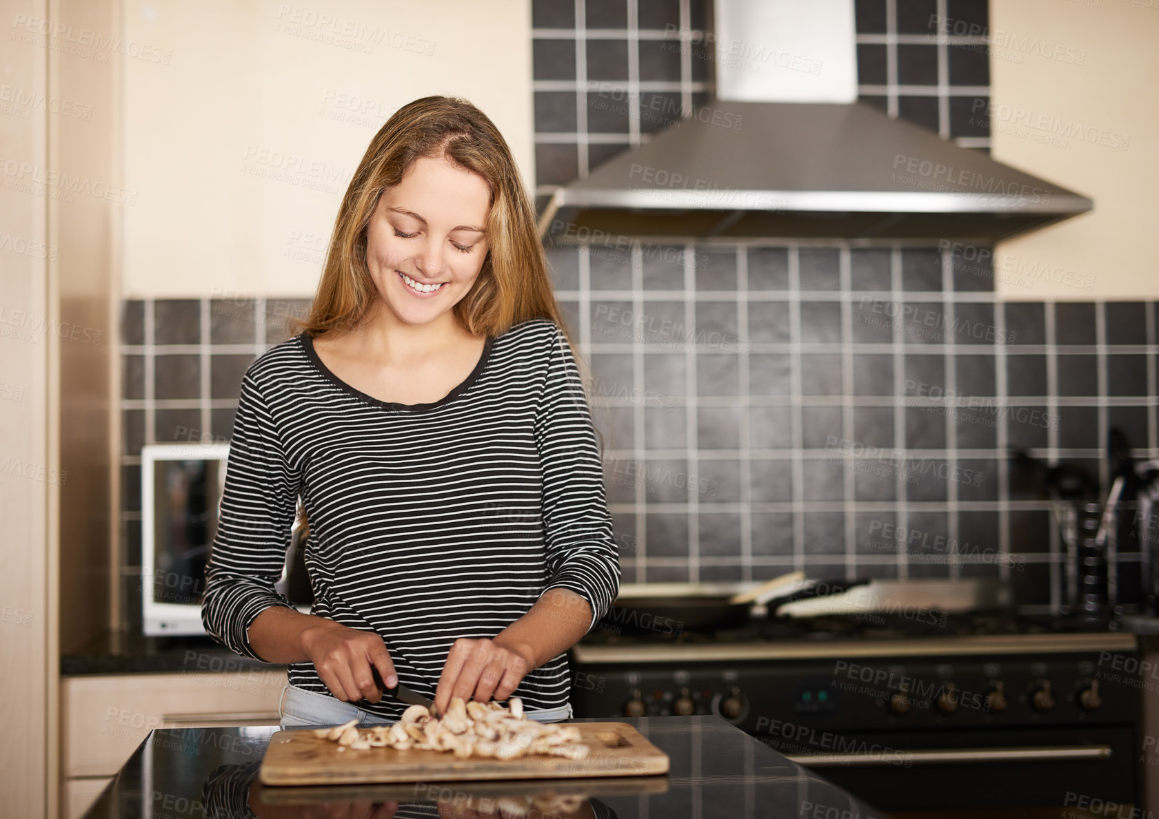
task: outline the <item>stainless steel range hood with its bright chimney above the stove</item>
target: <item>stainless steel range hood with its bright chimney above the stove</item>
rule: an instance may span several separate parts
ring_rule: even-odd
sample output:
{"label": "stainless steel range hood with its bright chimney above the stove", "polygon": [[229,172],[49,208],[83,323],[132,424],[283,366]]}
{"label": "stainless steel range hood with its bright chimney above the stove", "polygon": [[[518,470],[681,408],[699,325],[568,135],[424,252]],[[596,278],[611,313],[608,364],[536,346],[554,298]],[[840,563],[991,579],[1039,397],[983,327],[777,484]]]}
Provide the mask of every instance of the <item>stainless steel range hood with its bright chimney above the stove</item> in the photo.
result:
{"label": "stainless steel range hood with its bright chimney above the stove", "polygon": [[551,241],[992,242],[1091,199],[857,100],[853,0],[715,0],[716,97],[556,189]]}

